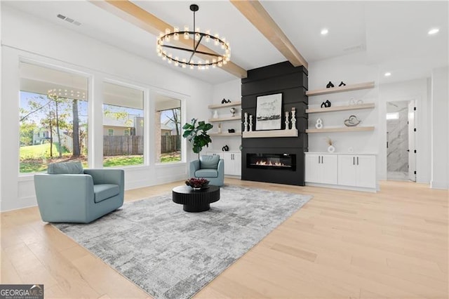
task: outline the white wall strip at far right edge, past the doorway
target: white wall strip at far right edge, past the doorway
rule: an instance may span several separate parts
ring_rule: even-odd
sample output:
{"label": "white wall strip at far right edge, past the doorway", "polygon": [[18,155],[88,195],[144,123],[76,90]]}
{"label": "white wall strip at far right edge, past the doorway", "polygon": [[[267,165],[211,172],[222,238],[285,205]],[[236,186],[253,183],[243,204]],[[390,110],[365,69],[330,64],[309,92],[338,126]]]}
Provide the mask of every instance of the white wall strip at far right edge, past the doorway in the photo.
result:
{"label": "white wall strip at far right edge, past the doorway", "polygon": [[449,189],[448,67],[432,70],[431,77],[431,187]]}

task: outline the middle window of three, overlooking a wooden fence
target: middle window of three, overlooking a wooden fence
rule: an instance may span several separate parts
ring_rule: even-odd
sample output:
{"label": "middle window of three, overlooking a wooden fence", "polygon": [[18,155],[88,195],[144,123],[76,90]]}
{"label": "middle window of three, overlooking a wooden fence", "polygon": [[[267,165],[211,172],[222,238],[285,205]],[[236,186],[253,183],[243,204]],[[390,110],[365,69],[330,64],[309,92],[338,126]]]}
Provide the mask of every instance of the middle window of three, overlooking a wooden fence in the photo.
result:
{"label": "middle window of three, overlooking a wooden fence", "polygon": [[103,135],[103,166],[144,164],[143,91],[105,82]]}

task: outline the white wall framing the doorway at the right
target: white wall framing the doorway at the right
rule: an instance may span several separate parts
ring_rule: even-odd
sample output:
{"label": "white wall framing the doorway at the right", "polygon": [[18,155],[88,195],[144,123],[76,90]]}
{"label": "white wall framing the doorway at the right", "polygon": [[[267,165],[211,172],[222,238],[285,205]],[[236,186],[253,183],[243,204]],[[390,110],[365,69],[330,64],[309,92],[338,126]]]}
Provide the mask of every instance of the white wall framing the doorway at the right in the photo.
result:
{"label": "white wall framing the doorway at the right", "polygon": [[427,90],[429,88],[427,78],[410,81],[396,82],[392,84],[382,84],[380,86],[380,180],[387,178],[387,102],[415,100],[416,119],[416,181],[422,183],[430,182],[430,106]]}

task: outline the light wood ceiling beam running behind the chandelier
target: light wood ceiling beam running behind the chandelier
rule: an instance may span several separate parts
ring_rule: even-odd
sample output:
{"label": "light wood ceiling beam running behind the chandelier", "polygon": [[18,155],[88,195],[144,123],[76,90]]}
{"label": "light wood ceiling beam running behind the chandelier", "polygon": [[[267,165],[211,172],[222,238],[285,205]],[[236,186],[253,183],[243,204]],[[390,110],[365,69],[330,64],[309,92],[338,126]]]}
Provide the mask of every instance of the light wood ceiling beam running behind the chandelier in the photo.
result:
{"label": "light wood ceiling beam running behind the chandelier", "polygon": [[[94,4],[95,6],[98,6],[105,11],[116,15],[119,18],[122,18],[123,20],[126,20],[127,22],[130,22],[131,24],[136,25],[141,29],[144,29],[145,31],[155,36],[159,36],[160,32],[165,32],[166,28],[173,28],[172,25],[157,18],[156,15],[152,15],[151,13],[145,11],[144,9],[128,0],[91,0],[90,2],[91,4]],[[179,41],[177,42],[179,44],[182,44],[183,46],[192,46],[192,41],[188,41],[185,39],[179,39]],[[202,44],[199,45],[198,50],[203,52],[216,53],[215,51],[206,46],[203,46]],[[156,54],[156,44],[154,44],[154,53]],[[199,56],[201,57],[201,55]],[[227,62],[227,64],[223,65],[221,69],[239,78],[246,78],[248,76],[246,74],[246,69],[239,67],[239,65],[236,65],[232,61]]]}

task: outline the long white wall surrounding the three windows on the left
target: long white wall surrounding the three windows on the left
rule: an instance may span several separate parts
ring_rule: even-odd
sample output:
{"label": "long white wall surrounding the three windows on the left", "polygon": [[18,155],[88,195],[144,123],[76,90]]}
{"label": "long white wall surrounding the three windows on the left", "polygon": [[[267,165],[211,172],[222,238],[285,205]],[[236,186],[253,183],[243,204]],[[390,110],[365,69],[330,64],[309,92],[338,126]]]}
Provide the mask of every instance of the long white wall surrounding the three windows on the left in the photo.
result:
{"label": "long white wall surrounding the three windows on the left", "polygon": [[[1,8],[1,43],[1,211],[36,204],[32,175],[18,174],[20,59],[72,69],[91,77],[91,137],[102,135],[103,80],[142,88],[145,91],[145,126],[149,141],[145,152],[151,155],[147,166],[125,168],[126,189],[182,180],[187,176],[186,163],[154,164],[154,126],[151,126],[154,97],[156,93],[164,93],[182,100],[185,120],[193,117],[207,119],[207,105],[213,96],[210,84],[5,6]],[[89,140],[89,164],[99,168],[102,165],[102,138]],[[185,161],[196,157],[190,145],[185,152]]]}

